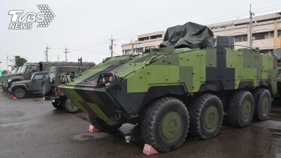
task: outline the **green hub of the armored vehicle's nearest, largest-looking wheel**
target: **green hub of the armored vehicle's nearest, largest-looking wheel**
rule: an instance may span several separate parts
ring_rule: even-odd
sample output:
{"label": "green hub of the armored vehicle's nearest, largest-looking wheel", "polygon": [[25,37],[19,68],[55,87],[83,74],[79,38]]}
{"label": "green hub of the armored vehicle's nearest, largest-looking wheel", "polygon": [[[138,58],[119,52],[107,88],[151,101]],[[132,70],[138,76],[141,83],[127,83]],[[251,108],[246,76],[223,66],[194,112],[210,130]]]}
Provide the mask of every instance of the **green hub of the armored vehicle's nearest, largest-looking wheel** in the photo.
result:
{"label": "green hub of the armored vehicle's nearest, largest-looking wheel", "polygon": [[181,116],[175,111],[171,111],[162,120],[161,133],[167,140],[172,140],[181,131]]}

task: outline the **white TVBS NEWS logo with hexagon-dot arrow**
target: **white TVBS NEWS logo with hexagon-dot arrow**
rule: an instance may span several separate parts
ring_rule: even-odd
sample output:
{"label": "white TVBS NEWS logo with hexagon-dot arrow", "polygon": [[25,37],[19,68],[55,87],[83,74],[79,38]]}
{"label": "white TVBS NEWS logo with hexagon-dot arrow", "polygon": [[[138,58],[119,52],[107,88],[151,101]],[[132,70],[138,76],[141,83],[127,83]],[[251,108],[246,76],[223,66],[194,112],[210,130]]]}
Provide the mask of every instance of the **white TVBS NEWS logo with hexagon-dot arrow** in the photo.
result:
{"label": "white TVBS NEWS logo with hexagon-dot arrow", "polygon": [[[9,30],[30,30],[32,23],[36,23],[38,28],[47,28],[54,17],[54,12],[46,4],[38,4],[39,13],[28,12],[24,14],[23,10],[9,11],[8,15],[12,15]],[[26,23],[24,21],[26,20]]]}

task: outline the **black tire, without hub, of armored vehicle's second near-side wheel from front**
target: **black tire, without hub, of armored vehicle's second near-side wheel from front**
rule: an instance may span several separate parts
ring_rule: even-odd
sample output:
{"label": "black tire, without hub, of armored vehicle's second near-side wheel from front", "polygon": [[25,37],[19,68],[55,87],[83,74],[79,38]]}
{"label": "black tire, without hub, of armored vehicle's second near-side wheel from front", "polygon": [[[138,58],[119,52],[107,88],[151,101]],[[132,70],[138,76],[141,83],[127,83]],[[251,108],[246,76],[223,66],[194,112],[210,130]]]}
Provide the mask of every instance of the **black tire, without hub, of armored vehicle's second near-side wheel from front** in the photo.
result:
{"label": "black tire, without hub, of armored vehicle's second near-side wheel from front", "polygon": [[[212,105],[217,108],[217,124],[212,129],[208,129],[205,126],[204,116],[208,107]],[[220,98],[216,95],[202,94],[194,98],[188,111],[190,117],[189,130],[193,136],[203,139],[209,139],[216,136],[220,131],[223,119],[223,107]]]}

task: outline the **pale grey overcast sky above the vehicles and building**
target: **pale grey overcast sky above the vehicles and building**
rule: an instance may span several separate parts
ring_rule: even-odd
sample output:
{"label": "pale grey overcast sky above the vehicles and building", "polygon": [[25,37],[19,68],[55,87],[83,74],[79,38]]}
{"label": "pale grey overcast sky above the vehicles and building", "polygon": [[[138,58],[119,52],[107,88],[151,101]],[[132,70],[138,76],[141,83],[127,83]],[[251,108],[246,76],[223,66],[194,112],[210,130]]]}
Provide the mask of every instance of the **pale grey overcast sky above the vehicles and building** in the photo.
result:
{"label": "pale grey overcast sky above the vehicles and building", "polygon": [[[280,0],[1,1],[0,67],[1,70],[6,69],[6,54],[9,59],[13,55],[20,55],[29,62],[44,61],[46,43],[50,47],[49,61],[57,61],[58,54],[59,61],[64,61],[63,51],[67,45],[70,51],[67,54],[68,61],[77,61],[82,56],[83,61],[99,63],[110,56],[111,34],[116,39],[114,55],[121,55],[121,44],[129,43],[131,39],[136,40],[138,34],[166,30],[167,27],[189,21],[204,25],[221,22],[222,19],[234,20],[236,17],[231,17],[239,15],[236,13],[245,11],[240,14],[243,15],[249,11],[250,3],[252,9],[264,8],[256,10],[260,11],[256,16],[281,11]],[[8,15],[10,10],[24,10],[24,15],[27,12],[39,13],[37,4],[47,4],[55,15],[47,28],[37,28],[37,23],[33,23],[31,30],[8,29],[12,17]],[[249,15],[242,16],[248,17]]]}

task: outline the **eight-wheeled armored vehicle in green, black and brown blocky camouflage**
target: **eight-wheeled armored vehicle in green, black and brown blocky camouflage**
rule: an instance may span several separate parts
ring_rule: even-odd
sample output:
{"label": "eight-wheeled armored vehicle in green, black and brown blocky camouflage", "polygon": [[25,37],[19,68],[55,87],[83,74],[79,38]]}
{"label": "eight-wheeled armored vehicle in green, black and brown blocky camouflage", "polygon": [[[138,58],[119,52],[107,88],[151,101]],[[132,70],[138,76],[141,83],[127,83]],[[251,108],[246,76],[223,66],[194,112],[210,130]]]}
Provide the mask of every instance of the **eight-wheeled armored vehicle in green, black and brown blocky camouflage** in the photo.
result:
{"label": "eight-wheeled armored vehicle in green, black and brown blocky camouflage", "polygon": [[[141,123],[145,143],[178,148],[188,132],[208,139],[223,112],[236,127],[264,121],[276,94],[277,57],[234,49],[232,37],[186,23],[168,28],[159,49],[123,62],[110,59],[59,88],[102,131]],[[68,78],[67,75],[62,75]]]}

